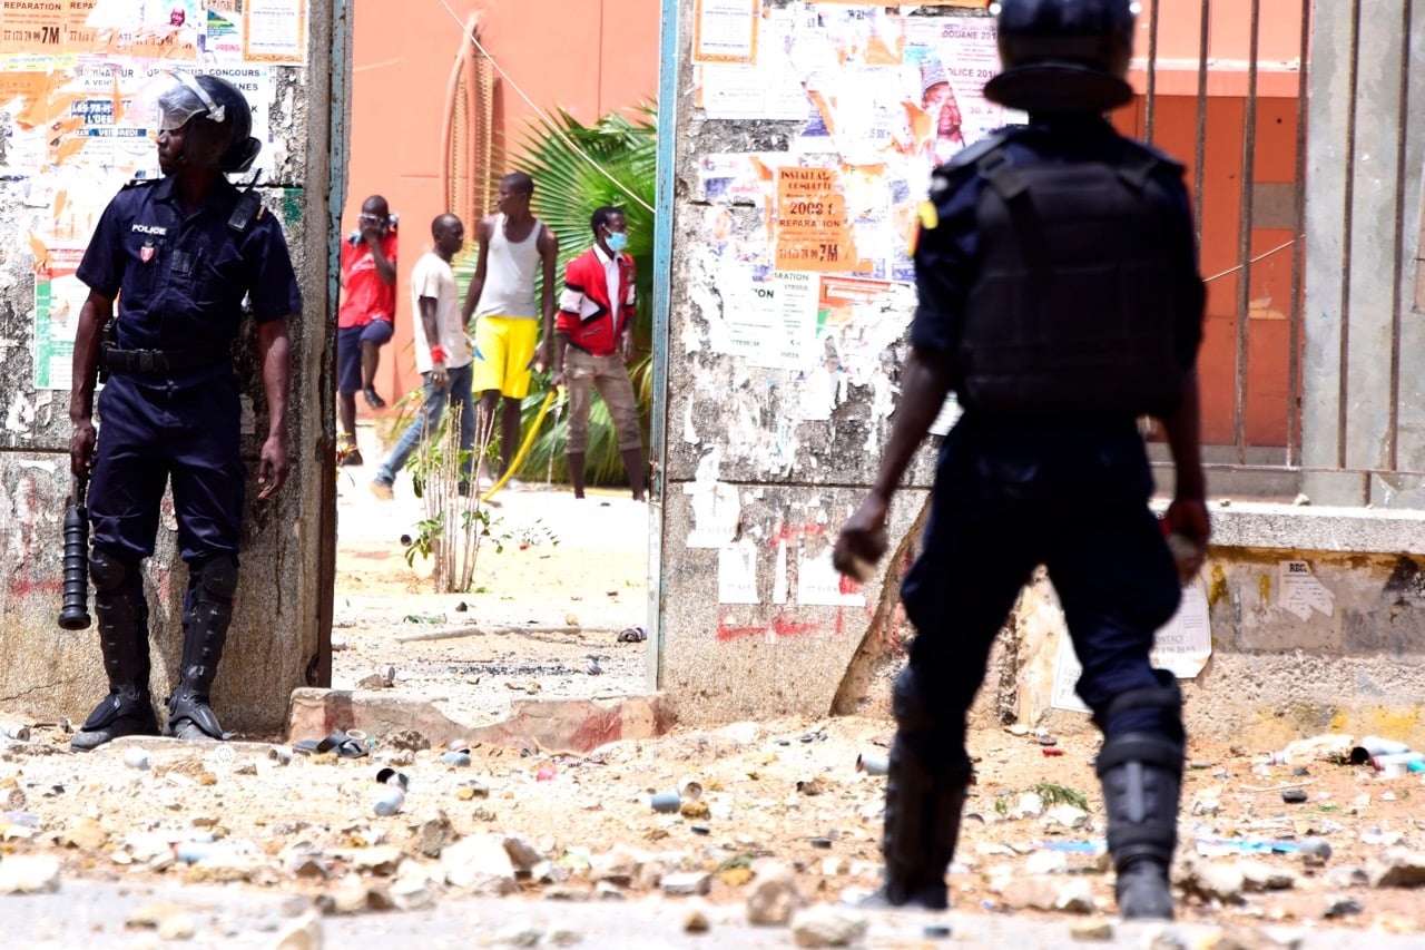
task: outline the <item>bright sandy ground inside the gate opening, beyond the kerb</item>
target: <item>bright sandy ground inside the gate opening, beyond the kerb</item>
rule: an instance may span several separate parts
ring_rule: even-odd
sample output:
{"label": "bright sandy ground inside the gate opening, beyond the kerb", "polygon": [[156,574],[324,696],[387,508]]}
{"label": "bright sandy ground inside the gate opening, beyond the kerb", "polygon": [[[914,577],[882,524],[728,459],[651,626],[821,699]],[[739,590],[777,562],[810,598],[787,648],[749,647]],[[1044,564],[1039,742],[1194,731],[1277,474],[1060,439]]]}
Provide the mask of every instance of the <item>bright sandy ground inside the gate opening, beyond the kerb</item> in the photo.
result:
{"label": "bright sandy ground inside the gate opening, beyond the kerb", "polygon": [[[580,501],[559,486],[502,489],[473,589],[436,593],[430,562],[408,563],[402,545],[423,502],[408,475],[395,501],[375,499],[368,481],[380,452],[369,429],[359,438],[366,464],[342,468],[338,482],[333,686],[395,668],[398,690],[445,696],[442,710],[470,725],[503,717],[512,699],[648,689],[647,642],[618,640],[648,623],[647,505],[627,491]],[[480,633],[409,639],[469,628]]]}

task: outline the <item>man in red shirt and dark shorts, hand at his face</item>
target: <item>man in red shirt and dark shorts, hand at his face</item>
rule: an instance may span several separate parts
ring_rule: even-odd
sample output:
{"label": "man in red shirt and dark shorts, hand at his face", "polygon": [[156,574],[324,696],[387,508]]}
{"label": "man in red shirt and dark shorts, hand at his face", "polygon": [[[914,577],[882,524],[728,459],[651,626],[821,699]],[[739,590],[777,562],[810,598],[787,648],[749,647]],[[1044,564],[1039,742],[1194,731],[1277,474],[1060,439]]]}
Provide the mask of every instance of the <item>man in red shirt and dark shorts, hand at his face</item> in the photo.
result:
{"label": "man in red shirt and dark shorts, hand at his face", "polygon": [[380,409],[376,394],[380,348],[390,341],[396,320],[396,218],[379,194],[366,198],[356,220],[359,230],[342,241],[342,295],[336,315],[336,415],[342,427],[338,465],[361,465],[356,449],[356,391],[366,405]]}

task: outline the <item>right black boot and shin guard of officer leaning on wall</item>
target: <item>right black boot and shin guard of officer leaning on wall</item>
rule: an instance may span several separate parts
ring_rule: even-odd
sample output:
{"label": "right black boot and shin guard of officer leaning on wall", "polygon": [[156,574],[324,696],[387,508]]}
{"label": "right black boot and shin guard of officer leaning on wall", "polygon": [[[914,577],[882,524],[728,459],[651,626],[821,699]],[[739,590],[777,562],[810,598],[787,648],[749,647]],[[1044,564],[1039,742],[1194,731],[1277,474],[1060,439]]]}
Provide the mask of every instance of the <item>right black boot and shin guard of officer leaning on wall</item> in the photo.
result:
{"label": "right black boot and shin guard of officer leaning on wall", "polygon": [[231,556],[219,556],[201,569],[192,569],[191,578],[182,618],[178,688],[168,699],[165,732],[185,742],[211,742],[227,739],[208,702],[208,693],[218,678],[218,662],[232,623],[238,565]]}

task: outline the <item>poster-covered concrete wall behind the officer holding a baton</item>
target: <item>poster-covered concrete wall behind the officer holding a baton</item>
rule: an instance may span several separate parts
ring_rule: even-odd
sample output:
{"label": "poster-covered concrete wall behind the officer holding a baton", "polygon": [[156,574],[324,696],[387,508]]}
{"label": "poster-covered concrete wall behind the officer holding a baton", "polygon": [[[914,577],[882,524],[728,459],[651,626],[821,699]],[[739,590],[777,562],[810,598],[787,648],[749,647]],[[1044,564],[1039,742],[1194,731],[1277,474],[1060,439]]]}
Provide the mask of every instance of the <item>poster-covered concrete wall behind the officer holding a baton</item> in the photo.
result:
{"label": "poster-covered concrete wall behind the officer holding a baton", "polygon": [[[73,345],[88,294],[76,268],[113,195],[160,174],[154,130],[134,104],[174,68],[218,73],[255,107],[258,188],[285,227],[305,307],[289,322],[291,478],[261,504],[248,486],[238,611],[215,688],[232,709],[225,725],[275,732],[291,690],[328,675],[325,315],[329,204],[341,188],[329,160],[332,113],[346,96],[345,63],[333,58],[343,30],[332,0],[0,0],[0,696],[20,703],[17,712],[73,719],[104,692],[93,628],[56,625],[73,491]],[[249,181],[252,173],[242,175]],[[251,358],[235,355],[242,448],[254,459],[265,399]],[[103,415],[98,424],[103,439]],[[174,682],[181,655],[187,569],[177,548],[170,514],[142,568],[155,688]],[[244,606],[256,603],[261,612]]]}

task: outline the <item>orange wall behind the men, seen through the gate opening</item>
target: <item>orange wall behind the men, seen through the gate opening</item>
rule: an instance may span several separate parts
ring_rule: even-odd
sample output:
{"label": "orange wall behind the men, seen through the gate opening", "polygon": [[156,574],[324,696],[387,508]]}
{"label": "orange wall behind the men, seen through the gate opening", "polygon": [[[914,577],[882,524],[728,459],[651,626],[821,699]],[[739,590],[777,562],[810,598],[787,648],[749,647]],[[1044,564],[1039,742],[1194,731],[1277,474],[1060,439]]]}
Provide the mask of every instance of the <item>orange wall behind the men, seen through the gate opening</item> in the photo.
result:
{"label": "orange wall behind the men, seen through the gate opening", "polygon": [[[396,337],[382,351],[376,388],[395,402],[419,385],[410,352],[409,274],[430,247],[430,220],[446,211],[442,130],[450,68],[466,19],[482,11],[480,43],[509,74],[494,114],[519,141],[533,110],[567,108],[591,123],[637,106],[658,88],[658,0],[353,0],[352,123],[342,230],[361,203],[382,194],[400,214]],[[512,81],[513,80],[513,84]],[[473,231],[473,223],[466,223]],[[366,412],[356,399],[358,412]],[[389,412],[389,409],[388,409]]]}

